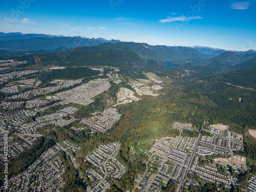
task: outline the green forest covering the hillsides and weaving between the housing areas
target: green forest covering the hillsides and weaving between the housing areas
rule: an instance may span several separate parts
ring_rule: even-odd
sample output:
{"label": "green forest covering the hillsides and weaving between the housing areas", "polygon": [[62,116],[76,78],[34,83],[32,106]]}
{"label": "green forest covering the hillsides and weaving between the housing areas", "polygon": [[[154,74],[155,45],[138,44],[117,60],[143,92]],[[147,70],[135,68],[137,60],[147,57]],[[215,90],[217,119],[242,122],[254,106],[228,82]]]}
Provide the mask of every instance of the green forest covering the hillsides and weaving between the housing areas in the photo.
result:
{"label": "green forest covering the hillsides and weaving between the housing areas", "polygon": [[[113,181],[113,185],[108,189],[112,192],[132,191],[135,177],[139,173],[143,174],[146,170],[145,161],[147,161],[148,157],[143,152],[132,154],[129,150],[131,146],[136,149],[139,142],[148,142],[164,136],[176,137],[181,135],[186,137],[198,137],[204,122],[205,127],[215,123],[226,124],[229,125],[230,131],[243,135],[245,135],[245,130],[256,129],[256,92],[254,90],[237,88],[225,83],[228,82],[236,86],[256,89],[255,81],[251,80],[256,78],[256,67],[241,69],[247,62],[243,65],[239,63],[240,61],[244,61],[247,57],[239,58],[236,54],[228,52],[208,59],[206,57],[198,57],[200,53],[190,48],[178,47],[176,48],[177,50],[174,51],[174,48],[165,49],[161,46],[154,48],[148,46],[148,48],[151,49],[142,49],[144,46],[146,45],[134,43],[119,43],[115,46],[113,46],[113,44],[103,44],[95,47],[77,47],[58,53],[51,52],[40,54],[38,57],[36,56],[38,60],[34,60],[35,56],[33,55],[17,57],[18,60],[25,59],[28,61],[28,64],[18,66],[20,69],[37,68],[40,70],[38,74],[33,74],[34,76],[31,75],[29,77],[42,81],[39,88],[53,86],[54,84],[50,83],[50,81],[54,79],[83,78],[82,82],[78,83],[80,85],[95,78],[108,78],[106,74],[115,70],[113,67],[119,67],[118,74],[123,82],[115,84],[113,82],[114,78],[111,79],[111,88],[95,96],[91,104],[87,106],[71,103],[66,103],[61,106],[54,105],[43,112],[37,112],[35,115],[35,117],[41,117],[67,106],[75,106],[78,109],[78,111],[73,114],[73,117],[76,118],[77,121],[62,127],[49,124],[40,127],[37,131],[42,135],[53,138],[59,143],[67,140],[81,147],[81,150],[74,152],[72,155],[74,155],[75,162],[87,183],[88,177],[86,170],[92,166],[92,164],[84,161],[86,155],[100,144],[119,141],[121,148],[116,158],[126,167],[126,172],[120,180]],[[183,61],[185,61],[186,57],[189,57],[190,54],[194,58],[191,59],[192,64],[187,62],[183,65],[175,65],[175,68],[170,68],[165,67],[163,61],[159,59],[160,57],[169,59],[169,57],[164,56],[166,54],[172,54],[176,59]],[[184,57],[181,57],[180,54],[184,54]],[[236,57],[235,63],[228,63],[226,60],[228,56]],[[228,66],[224,70],[223,63]],[[199,66],[199,64],[201,64],[201,66]],[[66,66],[67,68],[49,70],[49,67],[52,65]],[[100,66],[104,68],[103,76],[99,77],[100,72],[91,70],[88,68],[89,66]],[[234,70],[232,68],[240,70],[232,71]],[[159,95],[156,97],[139,95],[127,83],[133,82],[136,78],[149,80],[150,77],[146,77],[146,72],[155,73],[162,81],[161,86],[163,88],[157,92]],[[22,78],[12,79],[8,82]],[[3,88],[8,82],[4,82],[0,87]],[[52,92],[49,95],[67,91],[78,86],[78,84]],[[158,83],[152,81],[150,86],[156,84],[158,85]],[[102,112],[113,106],[117,101],[116,95],[121,87],[130,89],[140,100],[116,105],[115,109],[121,114],[121,118],[113,124],[108,132],[95,133],[89,129],[76,132],[69,129],[72,126],[84,127],[79,123],[81,118],[91,117],[92,113]],[[22,92],[34,89],[37,88],[29,87]],[[13,94],[0,93],[0,100],[3,101],[5,97],[11,95]],[[29,99],[44,99],[44,96],[44,94],[31,96],[28,99],[23,99],[23,101],[28,101]],[[17,99],[17,101],[19,100]],[[14,100],[7,99],[5,101]],[[54,102],[48,103],[45,106],[51,105]],[[26,106],[24,103],[18,110],[25,109]],[[11,112],[18,110],[14,109]],[[3,110],[3,112],[7,111],[8,110]],[[32,122],[35,117],[31,117],[29,122]],[[66,117],[66,119],[68,119],[68,117]],[[183,133],[180,133],[177,129],[173,129],[172,127],[175,121],[192,123],[195,131],[184,130]],[[47,129],[51,131],[45,132]],[[14,132],[11,131],[11,133]],[[202,131],[202,135],[212,136],[206,131]],[[23,172],[38,159],[44,151],[47,151],[48,148],[53,145],[54,143],[50,139],[40,137],[29,150],[9,161],[8,177],[11,178]],[[240,187],[245,189],[250,173],[256,173],[256,166],[253,164],[256,162],[256,145],[245,142],[244,151],[234,152],[234,154],[247,157],[247,160],[251,163],[248,166],[251,169],[250,172],[238,174],[234,173],[232,168],[229,168],[231,175],[235,175],[240,179]],[[205,158],[209,159],[212,157],[218,156]],[[68,156],[60,152],[60,158],[66,168],[66,172],[63,175],[65,185],[61,191],[84,191],[84,186],[77,176]],[[198,164],[204,166],[210,162],[211,160],[200,158]],[[3,164],[0,164],[0,186],[3,185],[3,169]],[[225,173],[226,169],[219,165],[218,170]],[[222,191],[227,191],[224,186],[219,187]],[[232,187],[231,191],[239,191],[240,187]],[[166,186],[162,187],[161,191],[174,191],[177,188],[177,185],[168,182]],[[200,183],[200,186],[189,186],[187,189],[184,189],[184,191],[218,191],[218,187],[214,183]]]}

